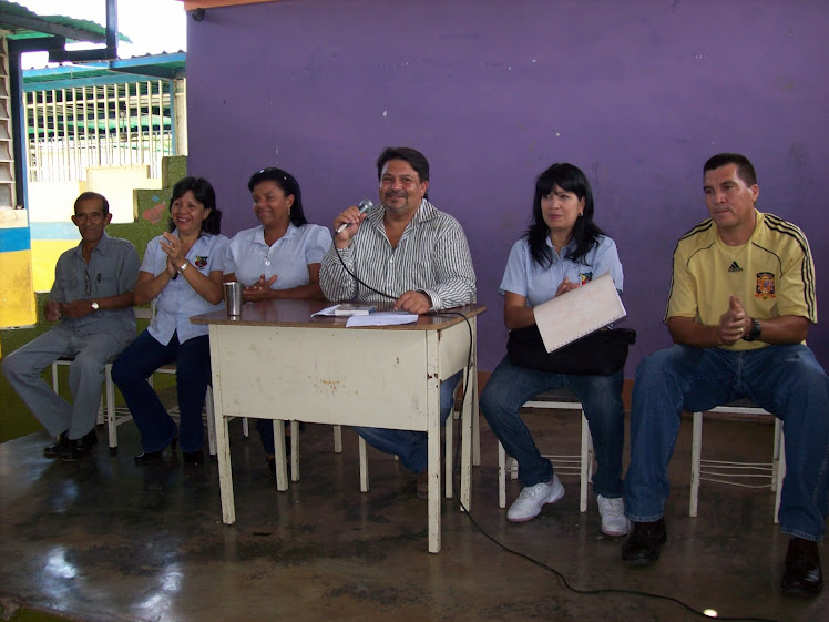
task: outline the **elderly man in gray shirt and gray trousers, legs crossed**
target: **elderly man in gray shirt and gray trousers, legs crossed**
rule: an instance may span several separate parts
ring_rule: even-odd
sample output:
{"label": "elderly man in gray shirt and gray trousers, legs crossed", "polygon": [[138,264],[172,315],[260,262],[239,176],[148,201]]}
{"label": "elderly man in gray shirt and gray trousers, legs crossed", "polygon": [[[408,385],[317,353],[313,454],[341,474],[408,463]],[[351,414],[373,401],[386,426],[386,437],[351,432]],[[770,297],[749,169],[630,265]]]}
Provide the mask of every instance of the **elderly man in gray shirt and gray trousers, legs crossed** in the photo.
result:
{"label": "elderly man in gray shirt and gray trousers, legs crossed", "polygon": [[[43,308],[45,318],[59,324],[2,363],[9,384],[58,439],[43,449],[47,458],[72,461],[92,451],[104,365],[135,338],[132,290],[139,255],[130,242],[104,233],[111,220],[104,196],[84,192],[75,200],[72,222],[82,239],[58,259]],[[71,405],[41,378],[62,356],[74,357],[69,367]]]}

